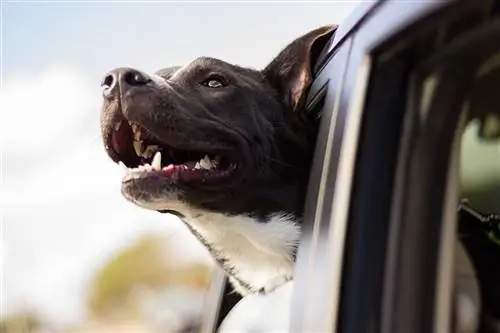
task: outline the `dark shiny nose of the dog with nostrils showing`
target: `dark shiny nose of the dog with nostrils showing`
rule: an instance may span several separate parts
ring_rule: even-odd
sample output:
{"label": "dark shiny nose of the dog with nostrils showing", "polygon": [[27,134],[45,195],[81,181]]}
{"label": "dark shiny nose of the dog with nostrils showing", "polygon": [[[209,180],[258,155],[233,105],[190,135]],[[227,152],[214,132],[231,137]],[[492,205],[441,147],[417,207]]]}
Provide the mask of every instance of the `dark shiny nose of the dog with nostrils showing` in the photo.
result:
{"label": "dark shiny nose of the dog with nostrils showing", "polygon": [[133,68],[116,68],[104,76],[101,82],[104,97],[114,97],[121,90],[140,87],[151,82],[147,74]]}

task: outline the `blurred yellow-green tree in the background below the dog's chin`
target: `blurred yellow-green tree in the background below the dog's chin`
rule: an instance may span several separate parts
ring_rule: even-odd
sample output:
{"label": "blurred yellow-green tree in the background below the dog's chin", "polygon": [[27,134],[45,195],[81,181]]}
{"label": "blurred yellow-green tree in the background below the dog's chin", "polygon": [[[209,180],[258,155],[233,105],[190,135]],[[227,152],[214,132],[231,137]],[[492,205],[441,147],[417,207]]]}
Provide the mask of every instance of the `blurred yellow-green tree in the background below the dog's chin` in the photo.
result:
{"label": "blurred yellow-green tree in the background below the dog's chin", "polygon": [[173,265],[167,242],[163,237],[144,236],[108,261],[91,286],[91,315],[96,319],[121,314],[139,316],[132,292],[140,287],[162,289],[182,284],[206,288],[211,268],[204,264]]}

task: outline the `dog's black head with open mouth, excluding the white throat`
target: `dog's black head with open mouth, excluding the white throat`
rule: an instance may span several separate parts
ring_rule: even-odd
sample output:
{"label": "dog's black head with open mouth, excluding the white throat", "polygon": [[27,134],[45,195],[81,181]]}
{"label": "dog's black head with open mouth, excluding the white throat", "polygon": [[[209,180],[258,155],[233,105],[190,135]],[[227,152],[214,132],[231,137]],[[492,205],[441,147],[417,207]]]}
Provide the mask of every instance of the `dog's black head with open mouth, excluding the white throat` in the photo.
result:
{"label": "dog's black head with open mouth, excluding the white throat", "polygon": [[304,111],[311,71],[335,27],[296,39],[262,71],[198,58],[103,80],[101,127],[125,197],[225,214],[298,213],[316,138]]}

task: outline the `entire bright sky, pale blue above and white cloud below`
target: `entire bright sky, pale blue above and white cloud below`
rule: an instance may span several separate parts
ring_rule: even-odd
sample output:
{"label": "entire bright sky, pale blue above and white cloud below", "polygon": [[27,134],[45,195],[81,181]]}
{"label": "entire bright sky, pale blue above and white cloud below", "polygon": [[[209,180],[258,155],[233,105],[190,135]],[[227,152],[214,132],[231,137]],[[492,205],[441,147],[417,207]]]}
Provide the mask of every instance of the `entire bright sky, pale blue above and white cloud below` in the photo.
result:
{"label": "entire bright sky, pale blue above and white cloud below", "polygon": [[180,258],[209,260],[178,220],[121,197],[122,173],[99,134],[108,70],[151,72],[197,56],[262,68],[355,5],[4,0],[0,314],[27,307],[78,322],[92,273],[144,233],[175,235]]}

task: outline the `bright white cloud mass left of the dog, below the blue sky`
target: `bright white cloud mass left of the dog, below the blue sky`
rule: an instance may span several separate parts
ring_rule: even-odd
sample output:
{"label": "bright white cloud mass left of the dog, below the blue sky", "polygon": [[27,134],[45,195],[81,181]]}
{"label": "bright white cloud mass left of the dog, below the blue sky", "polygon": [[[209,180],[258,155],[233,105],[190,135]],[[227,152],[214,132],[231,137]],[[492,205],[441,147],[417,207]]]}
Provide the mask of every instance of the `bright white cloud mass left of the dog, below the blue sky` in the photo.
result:
{"label": "bright white cloud mass left of the dog, below the blue sky", "polygon": [[[9,78],[1,92],[0,148],[21,149],[4,157],[9,166],[33,163],[24,174],[8,173],[8,186],[1,188],[7,312],[28,306],[55,323],[82,319],[95,269],[147,232],[175,233],[184,258],[208,257],[177,219],[121,197],[121,170],[97,136],[100,91],[94,86],[83,73],[57,67]],[[92,113],[96,127],[76,132],[71,149],[54,148],[54,142],[72,139],[71,129]],[[40,151],[51,152],[43,168],[30,159]]]}

